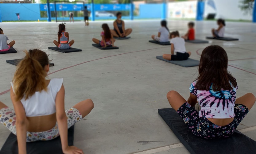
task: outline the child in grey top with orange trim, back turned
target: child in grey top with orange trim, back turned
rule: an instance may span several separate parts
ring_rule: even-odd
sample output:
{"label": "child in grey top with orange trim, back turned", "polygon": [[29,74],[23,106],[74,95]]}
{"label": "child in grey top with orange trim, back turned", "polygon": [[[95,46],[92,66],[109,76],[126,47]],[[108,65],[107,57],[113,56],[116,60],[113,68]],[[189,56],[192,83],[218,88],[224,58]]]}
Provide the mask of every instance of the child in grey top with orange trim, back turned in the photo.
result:
{"label": "child in grey top with orange trim, back turned", "polygon": [[53,43],[59,47],[59,49],[69,49],[71,45],[74,44],[74,40],[71,40],[68,43],[69,35],[68,32],[65,32],[66,28],[64,24],[59,25],[59,32],[58,32],[58,41],[53,40]]}

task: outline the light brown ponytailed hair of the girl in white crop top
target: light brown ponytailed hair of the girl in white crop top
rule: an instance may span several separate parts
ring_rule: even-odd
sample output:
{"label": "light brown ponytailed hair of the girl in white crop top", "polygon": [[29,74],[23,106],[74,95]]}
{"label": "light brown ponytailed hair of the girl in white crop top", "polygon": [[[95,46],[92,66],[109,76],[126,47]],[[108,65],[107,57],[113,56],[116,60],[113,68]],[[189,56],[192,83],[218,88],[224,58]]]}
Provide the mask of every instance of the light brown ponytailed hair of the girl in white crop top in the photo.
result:
{"label": "light brown ponytailed hair of the girl in white crop top", "polygon": [[34,49],[29,52],[24,51],[26,56],[18,64],[14,74],[14,93],[17,101],[22,98],[28,99],[37,90],[47,90],[45,81],[45,65],[49,64],[48,56],[45,52]]}

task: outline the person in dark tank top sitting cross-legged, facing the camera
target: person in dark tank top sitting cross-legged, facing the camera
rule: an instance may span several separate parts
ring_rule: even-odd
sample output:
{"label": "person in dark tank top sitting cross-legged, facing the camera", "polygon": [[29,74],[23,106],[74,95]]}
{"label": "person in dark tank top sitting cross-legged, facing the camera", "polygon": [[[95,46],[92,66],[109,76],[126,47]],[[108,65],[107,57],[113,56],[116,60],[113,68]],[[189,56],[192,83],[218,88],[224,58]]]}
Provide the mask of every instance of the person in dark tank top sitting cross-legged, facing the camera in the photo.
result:
{"label": "person in dark tank top sitting cross-legged, facing the camera", "polygon": [[132,33],[132,29],[125,29],[124,21],[121,20],[122,13],[118,12],[116,14],[117,19],[114,21],[114,30],[111,30],[111,33],[114,37],[126,37]]}

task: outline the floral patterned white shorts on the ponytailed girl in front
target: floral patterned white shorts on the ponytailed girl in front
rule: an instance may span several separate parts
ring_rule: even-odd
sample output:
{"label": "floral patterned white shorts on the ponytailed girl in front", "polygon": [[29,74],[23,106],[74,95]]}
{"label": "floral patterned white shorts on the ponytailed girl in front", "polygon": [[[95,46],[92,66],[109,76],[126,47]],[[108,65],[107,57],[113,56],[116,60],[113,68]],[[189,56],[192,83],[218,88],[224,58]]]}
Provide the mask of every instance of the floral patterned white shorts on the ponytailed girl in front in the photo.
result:
{"label": "floral patterned white shorts on the ponytailed girl in front", "polygon": [[[65,112],[68,128],[83,118],[82,114],[76,108],[69,108]],[[0,122],[16,135],[16,115],[14,109],[9,107],[0,109]],[[56,125],[50,130],[44,132],[27,132],[27,142],[52,140],[59,135],[58,124],[56,122]]]}

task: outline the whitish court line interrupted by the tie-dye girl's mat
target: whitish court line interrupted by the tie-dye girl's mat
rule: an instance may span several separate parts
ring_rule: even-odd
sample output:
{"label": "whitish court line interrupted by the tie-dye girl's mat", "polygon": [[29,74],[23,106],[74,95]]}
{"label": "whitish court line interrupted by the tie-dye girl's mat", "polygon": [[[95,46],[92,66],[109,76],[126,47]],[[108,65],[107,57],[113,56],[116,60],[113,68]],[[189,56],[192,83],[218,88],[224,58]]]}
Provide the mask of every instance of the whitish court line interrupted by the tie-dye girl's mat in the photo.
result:
{"label": "whitish court line interrupted by the tie-dye girl's mat", "polygon": [[[245,132],[249,132],[252,130],[256,130],[256,126],[240,129],[239,132],[245,133]],[[167,145],[164,147],[153,148],[153,149],[149,149],[149,150],[145,150],[145,151],[141,151],[141,152],[136,152],[136,153],[132,153],[132,154],[153,154],[153,153],[164,152],[164,151],[168,151],[173,148],[181,148],[181,147],[184,147],[184,145],[182,143],[178,143],[178,144],[173,144],[173,145]]]}

